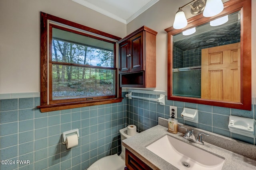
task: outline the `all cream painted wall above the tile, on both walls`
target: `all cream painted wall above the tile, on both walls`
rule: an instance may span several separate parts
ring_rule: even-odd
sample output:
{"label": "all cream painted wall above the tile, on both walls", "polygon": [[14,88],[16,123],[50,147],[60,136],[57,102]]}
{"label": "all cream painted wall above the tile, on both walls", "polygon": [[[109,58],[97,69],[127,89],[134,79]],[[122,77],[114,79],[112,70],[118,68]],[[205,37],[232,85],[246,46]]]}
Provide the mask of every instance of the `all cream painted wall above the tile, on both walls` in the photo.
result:
{"label": "all cream painted wall above the tile, on both walls", "polygon": [[[167,33],[180,6],[191,0],[160,0],[124,25],[72,0],[0,0],[0,94],[40,92],[40,11],[125,37],[146,25],[156,36],[156,88],[167,91]],[[226,2],[228,0],[222,0]],[[256,1],[252,0],[252,9]],[[190,18],[190,8],[183,10]],[[256,46],[256,11],[252,10],[252,47]],[[126,31],[127,30],[127,31]],[[252,48],[252,96],[256,96],[256,49]]]}

